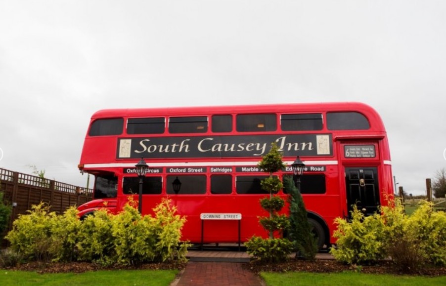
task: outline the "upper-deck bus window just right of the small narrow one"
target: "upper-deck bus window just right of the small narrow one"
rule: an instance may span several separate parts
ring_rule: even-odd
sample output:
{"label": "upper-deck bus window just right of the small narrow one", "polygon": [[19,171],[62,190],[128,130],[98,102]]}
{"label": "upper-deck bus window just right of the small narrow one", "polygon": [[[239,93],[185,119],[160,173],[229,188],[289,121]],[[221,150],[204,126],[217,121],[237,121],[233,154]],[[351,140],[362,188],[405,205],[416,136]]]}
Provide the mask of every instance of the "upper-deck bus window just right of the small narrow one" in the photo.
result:
{"label": "upper-deck bus window just right of the small narrow one", "polygon": [[275,114],[240,114],[237,115],[238,132],[275,131],[277,121]]}

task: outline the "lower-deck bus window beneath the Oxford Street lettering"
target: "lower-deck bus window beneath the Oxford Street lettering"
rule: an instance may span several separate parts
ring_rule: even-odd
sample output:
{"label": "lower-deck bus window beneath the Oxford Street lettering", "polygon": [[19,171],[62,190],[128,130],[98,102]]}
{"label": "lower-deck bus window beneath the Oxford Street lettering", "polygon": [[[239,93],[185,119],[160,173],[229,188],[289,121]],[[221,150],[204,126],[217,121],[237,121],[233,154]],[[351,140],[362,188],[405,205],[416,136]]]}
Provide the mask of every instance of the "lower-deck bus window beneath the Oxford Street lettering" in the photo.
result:
{"label": "lower-deck bus window beneath the Oxford Street lettering", "polygon": [[169,195],[206,194],[206,175],[169,175],[166,190]]}

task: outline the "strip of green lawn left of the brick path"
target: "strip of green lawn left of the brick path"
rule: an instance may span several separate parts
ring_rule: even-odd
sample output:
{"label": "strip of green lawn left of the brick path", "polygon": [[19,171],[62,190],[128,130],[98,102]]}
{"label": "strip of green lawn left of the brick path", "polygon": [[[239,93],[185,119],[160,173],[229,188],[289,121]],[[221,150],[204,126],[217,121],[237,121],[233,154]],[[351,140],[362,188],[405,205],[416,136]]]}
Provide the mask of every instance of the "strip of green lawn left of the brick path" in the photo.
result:
{"label": "strip of green lawn left of the brick path", "polygon": [[38,274],[27,271],[0,270],[0,285],[45,286],[168,286],[177,270],[114,270],[85,273]]}

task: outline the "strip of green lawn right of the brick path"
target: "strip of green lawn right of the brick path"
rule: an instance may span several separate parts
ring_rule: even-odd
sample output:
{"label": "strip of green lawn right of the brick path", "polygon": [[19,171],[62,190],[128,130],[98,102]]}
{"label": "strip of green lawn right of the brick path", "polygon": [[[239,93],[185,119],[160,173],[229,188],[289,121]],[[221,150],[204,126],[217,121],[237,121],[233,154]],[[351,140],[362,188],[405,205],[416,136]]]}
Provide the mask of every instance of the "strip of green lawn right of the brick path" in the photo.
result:
{"label": "strip of green lawn right of the brick path", "polygon": [[392,276],[374,275],[357,272],[342,273],[267,273],[261,274],[268,286],[288,286],[288,285],[327,285],[327,286],[433,286],[446,285],[446,276],[427,278],[422,276]]}

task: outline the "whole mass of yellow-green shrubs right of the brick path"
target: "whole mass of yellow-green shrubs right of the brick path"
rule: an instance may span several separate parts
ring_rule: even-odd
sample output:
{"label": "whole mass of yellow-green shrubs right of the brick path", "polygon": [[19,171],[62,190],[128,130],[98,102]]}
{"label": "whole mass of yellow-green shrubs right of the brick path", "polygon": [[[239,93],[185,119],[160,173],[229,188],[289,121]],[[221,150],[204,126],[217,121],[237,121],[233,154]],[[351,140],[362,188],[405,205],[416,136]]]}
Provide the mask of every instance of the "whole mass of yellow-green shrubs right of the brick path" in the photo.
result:
{"label": "whole mass of yellow-green shrubs right of the brick path", "polygon": [[353,264],[390,257],[401,270],[414,272],[425,263],[446,265],[446,214],[421,201],[407,216],[400,200],[389,201],[381,215],[364,217],[354,207],[351,223],[337,218],[335,259]]}

